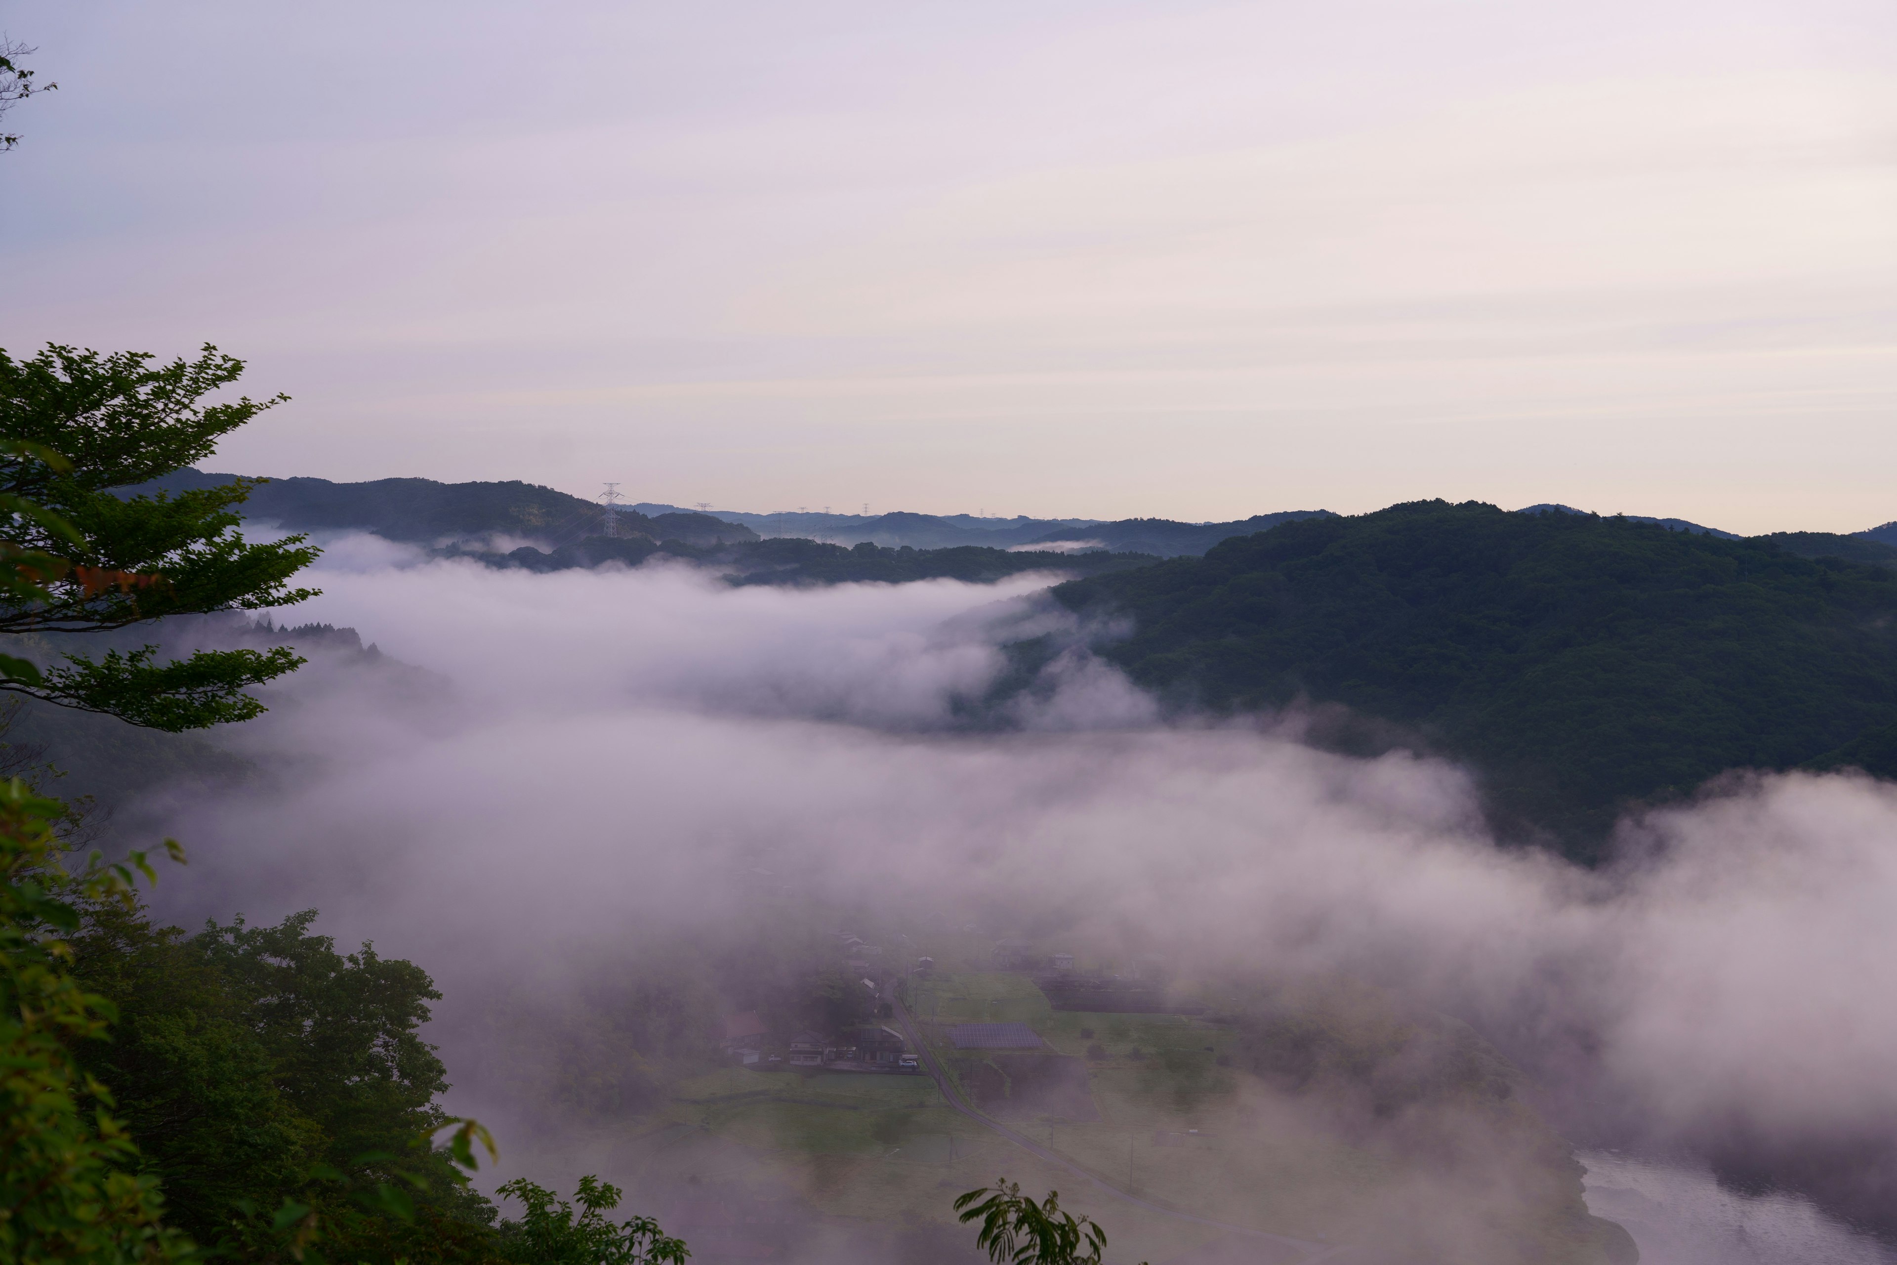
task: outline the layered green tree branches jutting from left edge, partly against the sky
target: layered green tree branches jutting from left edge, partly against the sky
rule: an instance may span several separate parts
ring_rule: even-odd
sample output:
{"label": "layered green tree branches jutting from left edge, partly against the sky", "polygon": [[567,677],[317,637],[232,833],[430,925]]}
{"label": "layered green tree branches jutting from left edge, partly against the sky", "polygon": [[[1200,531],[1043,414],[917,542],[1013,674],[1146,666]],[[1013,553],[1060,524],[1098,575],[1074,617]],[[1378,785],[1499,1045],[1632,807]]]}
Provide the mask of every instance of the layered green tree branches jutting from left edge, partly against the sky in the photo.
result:
{"label": "layered green tree branches jutting from left edge, partly against the sky", "polygon": [[[180,493],[118,497],[203,459],[216,440],[285,396],[207,404],[243,362],[205,347],[154,364],[144,353],[49,345],[28,360],[0,351],[0,514],[17,575],[32,594],[0,594],[0,633],[125,628],[167,614],[258,611],[315,596],[290,577],[317,554],[302,537],[249,542],[237,533],[256,480]],[[243,721],[262,704],[245,690],[294,669],[286,647],[199,651],[156,662],[156,647],[66,654],[55,668],[0,662],[0,688],[163,730]]]}

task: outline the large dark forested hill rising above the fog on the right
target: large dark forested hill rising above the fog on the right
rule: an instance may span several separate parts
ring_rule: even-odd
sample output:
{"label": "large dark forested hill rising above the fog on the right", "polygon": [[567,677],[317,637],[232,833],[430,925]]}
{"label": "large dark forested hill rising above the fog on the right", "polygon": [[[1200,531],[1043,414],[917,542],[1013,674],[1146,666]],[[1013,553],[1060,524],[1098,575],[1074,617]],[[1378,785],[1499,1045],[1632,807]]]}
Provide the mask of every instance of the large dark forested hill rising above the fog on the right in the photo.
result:
{"label": "large dark forested hill rising above the fog on the right", "polygon": [[1180,704],[1396,723],[1578,853],[1626,804],[1897,723],[1897,573],[1768,541],[1428,501],[1055,594],[1131,614],[1104,652]]}

